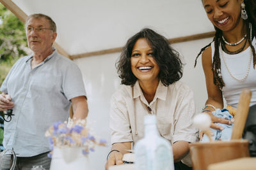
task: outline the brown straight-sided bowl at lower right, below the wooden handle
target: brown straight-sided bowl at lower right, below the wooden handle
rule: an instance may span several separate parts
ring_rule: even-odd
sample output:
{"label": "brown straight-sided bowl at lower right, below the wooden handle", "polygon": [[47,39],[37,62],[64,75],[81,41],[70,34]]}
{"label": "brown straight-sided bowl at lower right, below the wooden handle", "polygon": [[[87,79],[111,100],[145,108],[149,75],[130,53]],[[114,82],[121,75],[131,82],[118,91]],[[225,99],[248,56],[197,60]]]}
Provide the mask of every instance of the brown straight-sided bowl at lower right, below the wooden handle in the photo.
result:
{"label": "brown straight-sided bowl at lower right, below the wooden handle", "polygon": [[248,140],[212,141],[189,144],[194,170],[206,170],[209,164],[250,157]]}

